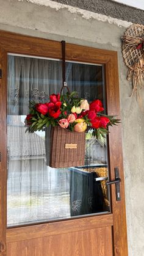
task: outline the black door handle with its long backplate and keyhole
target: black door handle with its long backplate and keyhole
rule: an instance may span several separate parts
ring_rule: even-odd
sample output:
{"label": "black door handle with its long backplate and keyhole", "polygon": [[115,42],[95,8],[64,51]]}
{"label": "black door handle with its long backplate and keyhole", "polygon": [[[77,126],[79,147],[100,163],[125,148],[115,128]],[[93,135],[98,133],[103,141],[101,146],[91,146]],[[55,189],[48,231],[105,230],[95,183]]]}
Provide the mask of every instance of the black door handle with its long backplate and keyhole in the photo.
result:
{"label": "black door handle with its long backplate and keyhole", "polygon": [[121,182],[121,179],[120,179],[120,175],[119,175],[119,169],[118,169],[118,167],[115,167],[115,180],[106,182],[106,185],[109,186],[109,185],[115,184],[117,201],[121,200],[121,196],[120,196],[120,182]]}

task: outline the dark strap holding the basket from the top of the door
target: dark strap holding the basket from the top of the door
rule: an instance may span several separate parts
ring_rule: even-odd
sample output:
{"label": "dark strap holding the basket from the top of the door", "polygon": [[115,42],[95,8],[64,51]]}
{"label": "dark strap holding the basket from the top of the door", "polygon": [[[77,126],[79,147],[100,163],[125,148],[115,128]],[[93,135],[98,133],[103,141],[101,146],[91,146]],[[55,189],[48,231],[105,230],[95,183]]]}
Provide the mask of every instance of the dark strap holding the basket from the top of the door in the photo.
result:
{"label": "dark strap holding the basket from the top of the door", "polygon": [[70,94],[70,90],[67,86],[67,82],[65,81],[65,41],[62,41],[62,88],[60,89],[60,94],[64,88],[67,88],[68,93]]}

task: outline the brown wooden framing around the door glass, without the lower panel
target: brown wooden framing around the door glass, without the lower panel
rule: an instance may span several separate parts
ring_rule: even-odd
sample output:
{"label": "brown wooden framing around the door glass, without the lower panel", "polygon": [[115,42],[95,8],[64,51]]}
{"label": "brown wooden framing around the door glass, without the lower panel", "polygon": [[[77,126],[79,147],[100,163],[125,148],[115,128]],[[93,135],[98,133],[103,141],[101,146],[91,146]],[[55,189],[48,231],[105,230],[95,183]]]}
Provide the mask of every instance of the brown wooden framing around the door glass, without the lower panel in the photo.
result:
{"label": "brown wooden framing around the door glass, without the lower panel", "polygon": [[[62,59],[61,43],[11,32],[0,31],[0,255],[6,255],[6,242],[27,240],[41,236],[56,235],[59,233],[74,232],[76,230],[95,229],[96,227],[113,227],[113,255],[127,256],[126,213],[124,202],[124,175],[123,156],[121,145],[121,125],[114,126],[109,134],[109,166],[110,179],[115,179],[115,167],[120,169],[121,201],[115,199],[115,185],[110,192],[112,196],[112,213],[90,216],[81,219],[70,219],[45,224],[29,225],[6,229],[6,169],[7,169],[7,127],[6,127],[6,102],[7,102],[7,53],[24,54],[31,56]],[[91,64],[103,64],[106,72],[107,110],[109,115],[120,117],[120,98],[118,89],[118,60],[117,52],[105,49],[95,49],[87,46],[66,45],[66,59]],[[111,129],[110,129],[111,131]],[[79,221],[81,220],[81,226]]]}

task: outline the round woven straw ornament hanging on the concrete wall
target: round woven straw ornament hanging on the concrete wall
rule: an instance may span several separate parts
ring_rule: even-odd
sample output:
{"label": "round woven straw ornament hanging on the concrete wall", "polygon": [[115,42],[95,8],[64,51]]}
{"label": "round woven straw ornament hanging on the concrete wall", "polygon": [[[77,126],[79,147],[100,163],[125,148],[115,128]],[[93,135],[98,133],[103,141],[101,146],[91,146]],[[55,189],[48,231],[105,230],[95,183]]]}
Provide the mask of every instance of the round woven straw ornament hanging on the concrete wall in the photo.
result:
{"label": "round woven straw ornament hanging on the concrete wall", "polygon": [[129,68],[128,80],[132,80],[132,94],[144,85],[144,26],[132,24],[122,37],[122,53]]}

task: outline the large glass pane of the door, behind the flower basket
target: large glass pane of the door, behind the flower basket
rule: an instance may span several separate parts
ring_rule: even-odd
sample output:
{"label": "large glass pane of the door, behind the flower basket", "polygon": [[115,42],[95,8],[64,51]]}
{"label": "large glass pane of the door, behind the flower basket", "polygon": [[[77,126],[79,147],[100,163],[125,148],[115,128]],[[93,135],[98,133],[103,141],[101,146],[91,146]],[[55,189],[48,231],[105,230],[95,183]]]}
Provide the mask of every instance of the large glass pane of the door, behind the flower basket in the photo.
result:
{"label": "large glass pane of the door, behind the flower basket", "polygon": [[[67,62],[66,78],[79,97],[103,101],[101,65]],[[29,100],[45,103],[62,86],[59,60],[8,55],[7,75],[7,226],[33,224],[110,211],[106,180],[106,142],[89,132],[85,166],[46,166],[45,132],[25,133]]]}

